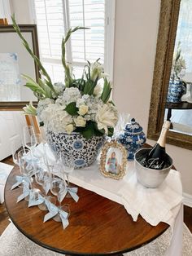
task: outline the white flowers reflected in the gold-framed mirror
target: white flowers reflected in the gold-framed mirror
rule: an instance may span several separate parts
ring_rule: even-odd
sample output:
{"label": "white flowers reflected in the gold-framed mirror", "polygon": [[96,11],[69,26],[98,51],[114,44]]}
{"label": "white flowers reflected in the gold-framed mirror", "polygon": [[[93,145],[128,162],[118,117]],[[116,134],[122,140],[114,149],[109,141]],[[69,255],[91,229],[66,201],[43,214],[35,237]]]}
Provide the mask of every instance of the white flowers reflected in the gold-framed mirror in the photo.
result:
{"label": "white flowers reflected in the gold-framed mirror", "polygon": [[185,60],[181,55],[181,42],[178,42],[177,52],[174,53],[172,58],[172,81],[175,79],[180,79],[181,70],[185,68]]}

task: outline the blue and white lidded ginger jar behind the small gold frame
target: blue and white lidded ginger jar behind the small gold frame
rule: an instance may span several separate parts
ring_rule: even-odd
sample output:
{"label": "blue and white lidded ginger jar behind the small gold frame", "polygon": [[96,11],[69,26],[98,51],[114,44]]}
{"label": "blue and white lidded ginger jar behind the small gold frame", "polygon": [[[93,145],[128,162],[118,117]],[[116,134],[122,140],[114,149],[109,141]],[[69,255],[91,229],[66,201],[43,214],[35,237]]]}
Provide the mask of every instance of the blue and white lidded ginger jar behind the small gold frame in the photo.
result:
{"label": "blue and white lidded ginger jar behind the small gold frame", "polygon": [[134,154],[138,148],[142,147],[142,144],[146,142],[146,135],[135,119],[131,119],[124,128],[124,133],[121,133],[117,137],[117,141],[124,145],[128,151],[128,160],[134,159]]}

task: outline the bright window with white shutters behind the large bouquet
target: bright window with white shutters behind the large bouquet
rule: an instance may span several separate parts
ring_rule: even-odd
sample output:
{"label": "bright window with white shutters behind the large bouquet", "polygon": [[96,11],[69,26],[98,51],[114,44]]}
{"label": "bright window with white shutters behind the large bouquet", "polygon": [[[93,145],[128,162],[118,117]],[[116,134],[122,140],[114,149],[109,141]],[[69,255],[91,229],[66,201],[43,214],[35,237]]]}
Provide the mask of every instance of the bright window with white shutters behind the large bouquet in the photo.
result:
{"label": "bright window with white shutters behind the large bouquet", "polygon": [[112,78],[115,0],[34,0],[41,61],[53,82],[63,81],[61,41],[71,27],[84,26],[72,34],[67,60],[81,77],[86,60],[100,58]]}

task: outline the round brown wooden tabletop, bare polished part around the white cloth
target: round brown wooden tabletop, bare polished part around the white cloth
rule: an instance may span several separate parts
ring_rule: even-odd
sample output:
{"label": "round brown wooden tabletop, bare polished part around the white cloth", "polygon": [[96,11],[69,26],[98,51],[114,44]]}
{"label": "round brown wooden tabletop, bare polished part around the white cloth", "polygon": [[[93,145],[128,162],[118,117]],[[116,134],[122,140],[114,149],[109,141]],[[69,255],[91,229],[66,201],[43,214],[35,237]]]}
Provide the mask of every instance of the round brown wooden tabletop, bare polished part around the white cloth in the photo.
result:
{"label": "round brown wooden tabletop, bare polished part around the white cloth", "polygon": [[5,188],[5,204],[12,222],[34,243],[60,254],[122,254],[146,245],[168,228],[166,223],[152,227],[141,216],[133,222],[123,205],[84,188],[78,190],[77,203],[70,198],[63,201],[71,209],[65,230],[52,219],[43,223],[46,211],[37,206],[28,208],[24,200],[16,203],[22,188],[11,190],[15,174],[19,174],[17,167],[11,171]]}

